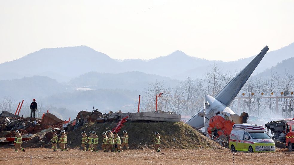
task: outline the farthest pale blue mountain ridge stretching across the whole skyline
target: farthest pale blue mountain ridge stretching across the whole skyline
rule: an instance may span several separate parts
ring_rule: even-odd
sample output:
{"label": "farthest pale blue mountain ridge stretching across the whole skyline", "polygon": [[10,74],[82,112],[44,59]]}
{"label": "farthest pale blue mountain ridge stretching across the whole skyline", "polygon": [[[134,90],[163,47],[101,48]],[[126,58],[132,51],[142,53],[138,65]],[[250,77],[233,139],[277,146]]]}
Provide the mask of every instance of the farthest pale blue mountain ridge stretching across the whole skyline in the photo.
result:
{"label": "farthest pale blue mountain ridge stretching across the whole skyline", "polygon": [[[256,50],[256,54],[260,50]],[[294,57],[293,52],[294,43],[279,50],[268,52],[254,74],[261,73],[284,59]],[[183,80],[187,76],[191,76],[191,78],[202,77],[207,68],[214,64],[217,64],[223,71],[240,71],[254,56],[237,61],[223,62],[195,58],[182,51],[175,51],[170,55],[151,60],[129,59],[119,61],[86,46],[50,48],[41,49],[17,60],[0,64],[0,80],[40,75],[56,79],[58,82],[67,82],[88,72],[124,73],[131,71]]]}

